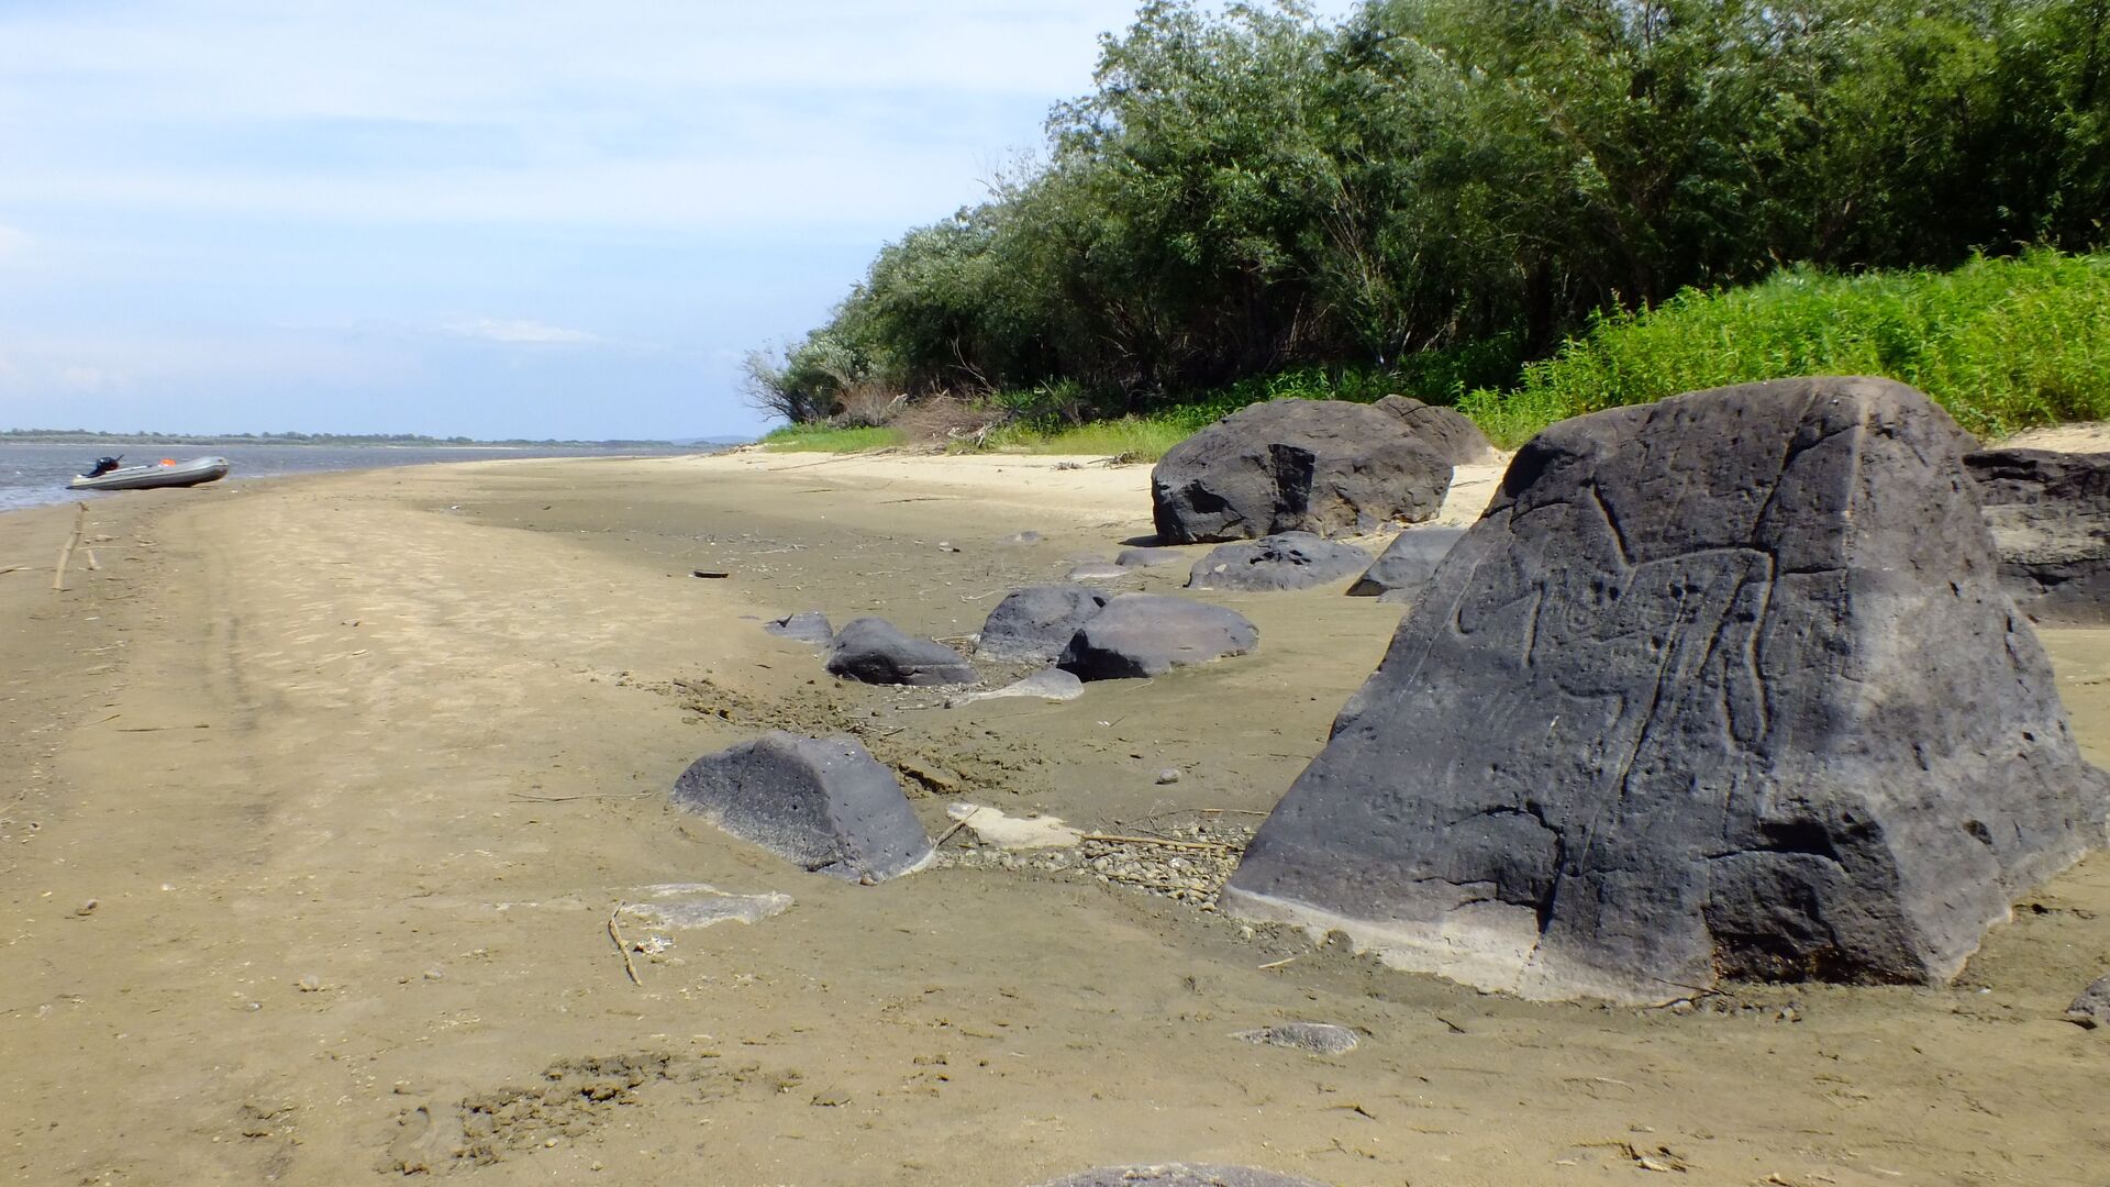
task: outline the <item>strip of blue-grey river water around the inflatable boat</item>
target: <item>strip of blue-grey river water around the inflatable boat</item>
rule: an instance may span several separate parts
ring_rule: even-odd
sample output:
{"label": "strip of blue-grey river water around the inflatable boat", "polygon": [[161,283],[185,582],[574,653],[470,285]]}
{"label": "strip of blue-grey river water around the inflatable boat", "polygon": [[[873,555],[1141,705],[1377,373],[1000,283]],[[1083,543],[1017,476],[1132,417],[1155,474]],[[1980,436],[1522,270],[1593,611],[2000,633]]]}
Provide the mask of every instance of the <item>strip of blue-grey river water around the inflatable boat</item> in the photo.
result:
{"label": "strip of blue-grey river water around the inflatable boat", "polygon": [[[667,450],[669,454],[707,452]],[[160,458],[228,458],[228,477],[219,482],[247,482],[257,477],[279,477],[287,473],[314,473],[329,469],[378,469],[409,467],[426,463],[479,463],[490,458],[595,458],[635,456],[641,450],[591,450],[591,448],[397,448],[397,446],[42,446],[0,441],[0,511],[65,503],[72,498],[110,498],[112,492],[68,490],[65,479],[87,471],[103,454],[124,454],[124,463],[156,463]]]}

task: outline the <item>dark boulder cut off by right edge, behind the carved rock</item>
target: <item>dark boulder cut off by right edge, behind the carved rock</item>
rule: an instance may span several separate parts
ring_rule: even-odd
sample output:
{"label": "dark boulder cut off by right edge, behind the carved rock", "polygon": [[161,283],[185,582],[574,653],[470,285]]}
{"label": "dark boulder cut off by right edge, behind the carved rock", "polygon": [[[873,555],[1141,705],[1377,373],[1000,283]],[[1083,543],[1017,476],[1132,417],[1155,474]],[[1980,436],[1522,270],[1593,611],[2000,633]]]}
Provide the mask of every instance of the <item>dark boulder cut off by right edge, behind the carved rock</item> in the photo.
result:
{"label": "dark boulder cut off by right edge, behind the carved rock", "polygon": [[2110,623],[2110,454],[1964,454],[2000,583],[2038,623]]}

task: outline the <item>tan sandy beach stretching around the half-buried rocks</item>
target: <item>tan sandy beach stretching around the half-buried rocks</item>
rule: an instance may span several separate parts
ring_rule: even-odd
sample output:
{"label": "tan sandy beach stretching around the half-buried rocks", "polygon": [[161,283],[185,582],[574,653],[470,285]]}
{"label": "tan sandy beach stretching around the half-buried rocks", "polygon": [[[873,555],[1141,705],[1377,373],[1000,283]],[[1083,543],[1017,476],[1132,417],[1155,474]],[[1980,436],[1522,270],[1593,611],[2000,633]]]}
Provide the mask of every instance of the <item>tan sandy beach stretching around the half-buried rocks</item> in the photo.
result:
{"label": "tan sandy beach stretching around the half-buried rocks", "polygon": [[[1150,536],[1148,473],[736,452],[141,492],[91,507],[63,591],[74,507],[0,515],[0,1179],[2106,1181],[2110,1037],[2061,1018],[2110,957],[2104,853],[1952,986],[1633,1010],[1479,995],[962,834],[937,868],[838,883],[667,805],[698,754],[850,731],[931,836],[977,803],[1188,839],[1207,868],[1397,606],[1198,594],[1260,651],[1068,703],[842,684],[762,632],[825,610],[971,636],[1004,591]],[[1496,471],[1460,479],[1452,522]],[[2110,762],[2110,634],[2040,634]],[[610,919],[682,883],[791,906],[673,931],[633,980]],[[1232,1037],[1289,1020],[1361,1045]]]}

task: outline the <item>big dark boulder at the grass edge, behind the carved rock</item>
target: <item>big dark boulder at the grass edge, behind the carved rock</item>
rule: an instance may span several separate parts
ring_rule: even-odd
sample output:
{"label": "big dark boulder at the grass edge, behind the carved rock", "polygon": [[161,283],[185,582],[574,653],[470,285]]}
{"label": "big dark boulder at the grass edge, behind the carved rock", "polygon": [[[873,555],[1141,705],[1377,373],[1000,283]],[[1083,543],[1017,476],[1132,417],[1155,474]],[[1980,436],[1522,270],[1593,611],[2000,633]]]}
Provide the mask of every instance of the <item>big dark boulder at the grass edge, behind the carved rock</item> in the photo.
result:
{"label": "big dark boulder at the grass edge, behind the carved rock", "polygon": [[1173,446],[1150,471],[1150,505],[1171,545],[1338,536],[1435,517],[1450,471],[1397,416],[1367,403],[1274,399]]}

